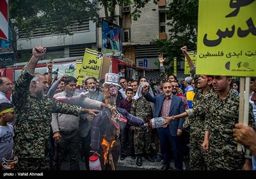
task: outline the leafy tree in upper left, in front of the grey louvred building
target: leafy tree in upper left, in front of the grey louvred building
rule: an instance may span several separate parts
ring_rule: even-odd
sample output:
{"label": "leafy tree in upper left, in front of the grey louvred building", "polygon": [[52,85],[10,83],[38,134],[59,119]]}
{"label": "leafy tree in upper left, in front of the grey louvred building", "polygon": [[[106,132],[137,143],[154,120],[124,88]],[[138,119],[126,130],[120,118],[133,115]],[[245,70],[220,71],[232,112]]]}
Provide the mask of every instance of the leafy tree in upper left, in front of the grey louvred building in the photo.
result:
{"label": "leafy tree in upper left, in front of the grey louvred building", "polygon": [[77,20],[93,20],[99,24],[97,1],[90,0],[10,0],[9,24],[13,34],[13,51],[17,56],[19,30],[29,39],[31,32],[40,29],[42,33],[72,35],[68,26]]}

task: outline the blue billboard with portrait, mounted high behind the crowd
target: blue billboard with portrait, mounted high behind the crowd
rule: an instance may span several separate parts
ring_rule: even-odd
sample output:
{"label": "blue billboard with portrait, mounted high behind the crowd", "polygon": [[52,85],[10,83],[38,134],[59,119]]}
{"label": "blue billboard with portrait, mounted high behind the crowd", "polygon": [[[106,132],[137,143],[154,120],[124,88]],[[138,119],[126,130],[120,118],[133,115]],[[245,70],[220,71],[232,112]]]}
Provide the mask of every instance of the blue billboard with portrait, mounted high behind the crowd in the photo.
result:
{"label": "blue billboard with portrait, mounted high behind the crowd", "polygon": [[122,27],[102,20],[102,53],[122,53]]}

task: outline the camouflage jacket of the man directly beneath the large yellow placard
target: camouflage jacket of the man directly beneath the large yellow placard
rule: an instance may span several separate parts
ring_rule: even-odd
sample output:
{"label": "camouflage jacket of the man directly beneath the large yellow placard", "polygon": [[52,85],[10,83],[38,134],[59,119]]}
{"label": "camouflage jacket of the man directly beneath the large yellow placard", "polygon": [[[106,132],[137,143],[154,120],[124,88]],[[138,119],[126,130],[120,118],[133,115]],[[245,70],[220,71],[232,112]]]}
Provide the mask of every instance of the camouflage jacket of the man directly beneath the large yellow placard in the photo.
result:
{"label": "camouflage jacket of the man directly beneath the large yellow placard", "polygon": [[[209,169],[241,169],[244,155],[242,152],[237,152],[237,143],[233,137],[233,128],[239,118],[239,96],[230,89],[225,100],[221,100],[218,98],[218,93],[214,93],[204,104],[193,107],[193,112],[195,115],[205,114],[205,130],[211,132],[209,137],[211,168]],[[255,126],[251,105],[248,125]]]}

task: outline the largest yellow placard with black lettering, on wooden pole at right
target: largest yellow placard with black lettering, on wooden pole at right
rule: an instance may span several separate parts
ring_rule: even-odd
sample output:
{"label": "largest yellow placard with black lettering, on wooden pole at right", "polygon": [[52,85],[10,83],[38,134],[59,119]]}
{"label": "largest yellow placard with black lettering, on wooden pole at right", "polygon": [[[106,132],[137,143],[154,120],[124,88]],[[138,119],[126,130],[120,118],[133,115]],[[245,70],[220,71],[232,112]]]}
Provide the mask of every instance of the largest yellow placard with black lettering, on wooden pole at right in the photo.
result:
{"label": "largest yellow placard with black lettering, on wooden pole at right", "polygon": [[197,39],[196,74],[255,77],[256,1],[199,0]]}

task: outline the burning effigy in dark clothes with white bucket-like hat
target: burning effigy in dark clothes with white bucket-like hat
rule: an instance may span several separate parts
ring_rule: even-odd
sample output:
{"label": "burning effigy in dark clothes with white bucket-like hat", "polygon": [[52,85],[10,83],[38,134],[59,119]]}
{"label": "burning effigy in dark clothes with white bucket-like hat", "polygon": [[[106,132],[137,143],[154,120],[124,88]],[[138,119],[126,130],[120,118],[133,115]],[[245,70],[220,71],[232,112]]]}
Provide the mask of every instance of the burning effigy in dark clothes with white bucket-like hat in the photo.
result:
{"label": "burning effigy in dark clothes with white bucket-like hat", "polygon": [[100,155],[102,170],[115,170],[121,151],[118,137],[120,130],[126,123],[139,127],[144,125],[141,118],[132,116],[125,109],[116,107],[118,94],[118,75],[108,73],[105,75],[104,97],[108,105],[95,116],[92,124],[91,147],[93,152]]}

